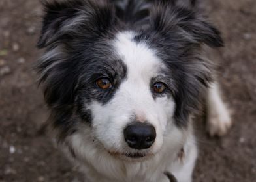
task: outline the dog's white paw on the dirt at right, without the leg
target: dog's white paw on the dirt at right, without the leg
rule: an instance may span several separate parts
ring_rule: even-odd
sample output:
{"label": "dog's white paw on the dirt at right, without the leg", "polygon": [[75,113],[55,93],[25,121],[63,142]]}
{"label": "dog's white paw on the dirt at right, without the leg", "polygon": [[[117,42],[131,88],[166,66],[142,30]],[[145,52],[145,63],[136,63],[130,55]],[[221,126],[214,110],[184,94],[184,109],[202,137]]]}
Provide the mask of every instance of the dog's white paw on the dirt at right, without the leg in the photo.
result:
{"label": "dog's white paw on the dirt at right, without the leg", "polygon": [[231,116],[227,109],[216,111],[208,115],[207,130],[210,136],[223,136],[232,125]]}

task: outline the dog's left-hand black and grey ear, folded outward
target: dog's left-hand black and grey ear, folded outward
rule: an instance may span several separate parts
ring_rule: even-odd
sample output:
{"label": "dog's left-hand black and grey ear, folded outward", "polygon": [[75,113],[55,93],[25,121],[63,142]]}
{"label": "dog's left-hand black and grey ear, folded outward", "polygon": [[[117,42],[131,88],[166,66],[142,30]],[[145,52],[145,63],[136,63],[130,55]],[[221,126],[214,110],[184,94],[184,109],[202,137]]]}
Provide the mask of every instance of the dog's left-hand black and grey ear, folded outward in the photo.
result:
{"label": "dog's left-hand black and grey ear, folded outward", "polygon": [[104,0],[44,1],[44,18],[37,47],[72,38],[82,33],[104,34],[115,21],[114,8]]}

